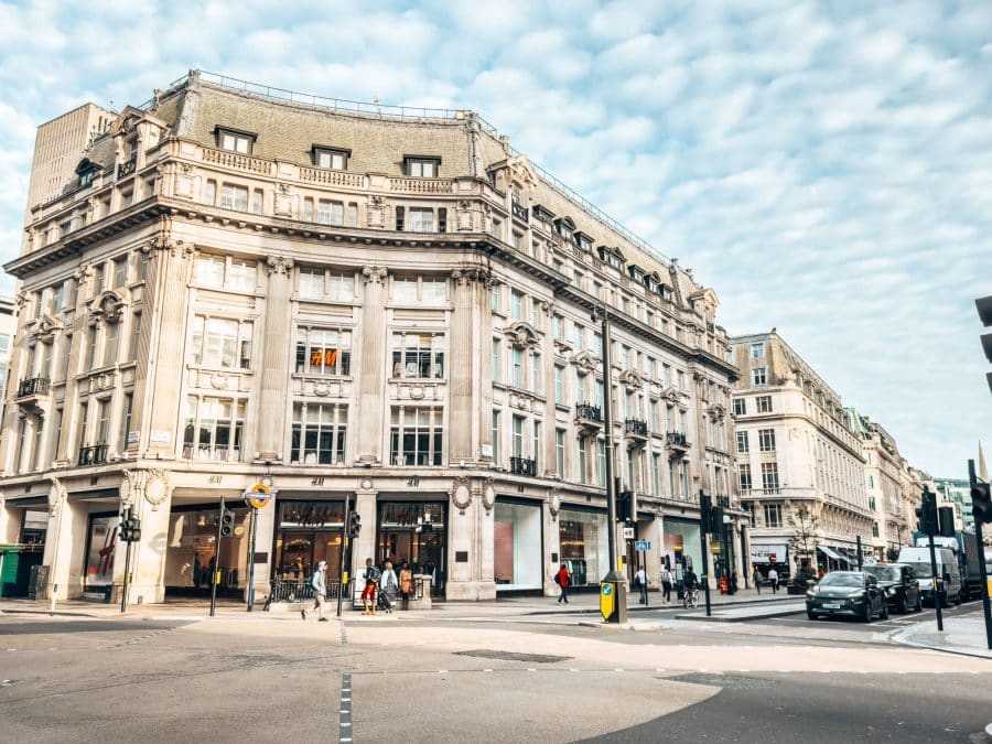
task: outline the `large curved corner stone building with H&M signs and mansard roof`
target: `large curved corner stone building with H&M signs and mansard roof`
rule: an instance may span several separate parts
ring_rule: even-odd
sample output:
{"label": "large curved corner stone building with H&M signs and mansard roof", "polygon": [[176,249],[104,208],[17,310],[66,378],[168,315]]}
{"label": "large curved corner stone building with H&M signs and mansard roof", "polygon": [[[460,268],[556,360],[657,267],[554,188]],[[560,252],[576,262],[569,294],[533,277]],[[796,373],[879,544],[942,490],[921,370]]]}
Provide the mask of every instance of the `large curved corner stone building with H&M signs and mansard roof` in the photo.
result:
{"label": "large curved corner stone building with H&M signs and mansard roof", "polygon": [[[339,575],[351,499],[355,565],[408,560],[438,596],[552,593],[560,562],[593,585],[612,390],[648,568],[699,560],[700,489],[727,502],[740,568],[715,293],[474,112],[368,109],[194,72],[30,205],[7,266],[23,385],[0,532],[47,509],[50,587],[112,597],[130,507],[132,601],[203,594],[214,568],[239,594],[249,564],[263,595],[317,560]],[[259,482],[274,498],[252,552],[242,494]]]}

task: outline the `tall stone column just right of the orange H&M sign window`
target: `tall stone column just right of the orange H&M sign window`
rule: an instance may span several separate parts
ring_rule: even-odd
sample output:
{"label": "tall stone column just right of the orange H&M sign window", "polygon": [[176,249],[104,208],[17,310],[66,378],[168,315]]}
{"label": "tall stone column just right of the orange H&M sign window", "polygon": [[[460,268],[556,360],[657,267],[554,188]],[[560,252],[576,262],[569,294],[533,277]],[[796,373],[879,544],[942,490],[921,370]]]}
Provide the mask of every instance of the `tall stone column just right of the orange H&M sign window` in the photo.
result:
{"label": "tall stone column just right of the orange H&M sign window", "polygon": [[356,423],[358,425],[358,463],[367,465],[382,463],[382,408],[387,400],[384,377],[386,370],[386,277],[387,271],[381,266],[366,266],[362,269],[365,291],[362,303],[362,355]]}

